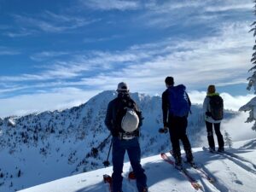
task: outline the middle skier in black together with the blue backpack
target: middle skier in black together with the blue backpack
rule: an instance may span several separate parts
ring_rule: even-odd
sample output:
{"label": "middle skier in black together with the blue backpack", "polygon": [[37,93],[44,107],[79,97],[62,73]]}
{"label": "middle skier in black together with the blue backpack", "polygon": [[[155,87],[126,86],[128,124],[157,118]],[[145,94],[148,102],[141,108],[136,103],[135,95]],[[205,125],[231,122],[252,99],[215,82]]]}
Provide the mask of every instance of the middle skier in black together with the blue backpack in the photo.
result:
{"label": "middle skier in black together with the blue backpack", "polygon": [[[167,77],[165,83],[167,90],[162,94],[163,123],[165,129],[168,128],[170,132],[172,152],[176,160],[176,165],[180,166],[182,164],[179,139],[183,142],[187,161],[193,163],[191,145],[186,134],[188,125],[187,117],[191,106],[189,95],[186,93],[183,85],[174,87],[172,77]],[[177,92],[174,92],[175,90]],[[172,94],[174,96],[172,96]],[[178,98],[175,98],[175,96],[178,96]],[[172,99],[172,97],[174,97],[174,99]]]}

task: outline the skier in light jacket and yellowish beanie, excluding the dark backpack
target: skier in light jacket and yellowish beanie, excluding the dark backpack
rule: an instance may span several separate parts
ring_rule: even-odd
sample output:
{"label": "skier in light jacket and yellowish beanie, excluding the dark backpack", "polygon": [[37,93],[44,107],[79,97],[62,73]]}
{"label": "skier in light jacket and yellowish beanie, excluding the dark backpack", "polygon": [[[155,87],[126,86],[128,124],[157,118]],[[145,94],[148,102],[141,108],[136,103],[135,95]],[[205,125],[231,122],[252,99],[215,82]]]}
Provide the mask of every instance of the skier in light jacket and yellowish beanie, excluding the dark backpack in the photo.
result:
{"label": "skier in light jacket and yellowish beanie, excluding the dark backpack", "polygon": [[[213,96],[219,96],[218,92],[215,92],[215,86],[213,84],[210,84],[207,89],[207,96],[203,103],[203,112],[205,115],[206,125],[207,125],[207,139],[209,143],[209,150],[210,152],[215,151],[215,143],[214,143],[214,137],[213,137],[213,131],[212,131],[212,125],[214,127],[215,134],[218,139],[218,152],[224,151],[224,139],[220,132],[220,123],[221,119],[212,119],[212,113],[211,113],[211,106],[210,101]],[[219,96],[220,97],[220,96]]]}

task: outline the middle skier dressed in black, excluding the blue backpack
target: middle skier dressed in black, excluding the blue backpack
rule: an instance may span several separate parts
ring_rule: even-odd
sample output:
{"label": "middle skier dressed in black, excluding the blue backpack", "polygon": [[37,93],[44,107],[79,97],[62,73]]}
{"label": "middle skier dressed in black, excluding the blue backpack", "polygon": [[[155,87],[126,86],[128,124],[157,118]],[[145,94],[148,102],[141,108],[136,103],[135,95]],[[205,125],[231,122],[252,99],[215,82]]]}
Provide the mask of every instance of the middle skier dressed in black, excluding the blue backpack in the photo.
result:
{"label": "middle skier dressed in black, excluding the blue backpack", "polygon": [[[169,101],[169,89],[172,89],[174,85],[174,80],[172,77],[166,77],[166,90],[162,94],[162,112],[163,112],[163,124],[164,129],[169,129],[171,143],[172,143],[172,154],[175,159],[175,164],[177,166],[182,165],[181,153],[180,153],[180,146],[179,140],[183,143],[183,148],[186,153],[187,161],[190,164],[193,164],[193,155],[191,152],[191,145],[189,143],[189,138],[187,137],[186,129],[188,125],[188,113],[182,117],[174,116],[170,113],[170,109],[172,103]],[[189,100],[189,95],[185,92],[185,97],[189,102],[189,108],[191,106],[191,102]]]}

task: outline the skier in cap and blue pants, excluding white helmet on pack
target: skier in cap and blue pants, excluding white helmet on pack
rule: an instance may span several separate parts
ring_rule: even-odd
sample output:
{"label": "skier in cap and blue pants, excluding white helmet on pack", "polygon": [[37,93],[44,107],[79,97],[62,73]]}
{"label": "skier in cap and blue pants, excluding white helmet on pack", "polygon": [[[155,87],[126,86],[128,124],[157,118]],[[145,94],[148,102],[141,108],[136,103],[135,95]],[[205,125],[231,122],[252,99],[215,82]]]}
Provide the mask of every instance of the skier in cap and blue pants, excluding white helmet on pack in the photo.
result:
{"label": "skier in cap and blue pants, excluding white helmet on pack", "polygon": [[[131,99],[127,84],[121,82],[118,84],[118,96],[108,103],[108,111],[105,119],[105,125],[112,133],[112,162],[113,162],[113,192],[122,191],[122,172],[127,151],[131,167],[137,178],[137,189],[139,192],[147,192],[147,176],[141,165],[141,148],[139,144],[139,127],[143,123],[142,114],[137,107],[137,103]],[[122,119],[124,108],[133,108],[138,116],[138,125],[136,130],[126,131],[122,128]]]}

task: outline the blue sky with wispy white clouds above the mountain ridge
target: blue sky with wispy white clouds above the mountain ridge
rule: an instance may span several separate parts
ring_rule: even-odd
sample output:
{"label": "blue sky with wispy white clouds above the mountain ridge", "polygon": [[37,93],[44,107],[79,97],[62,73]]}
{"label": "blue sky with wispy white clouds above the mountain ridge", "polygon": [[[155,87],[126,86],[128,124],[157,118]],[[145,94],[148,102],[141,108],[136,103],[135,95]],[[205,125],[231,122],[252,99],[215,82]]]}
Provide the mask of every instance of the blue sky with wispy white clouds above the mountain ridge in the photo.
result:
{"label": "blue sky with wispy white clouds above the mountain ridge", "polygon": [[0,117],[70,108],[120,81],[160,95],[166,76],[191,94],[252,93],[252,0],[0,0],[0,18]]}

